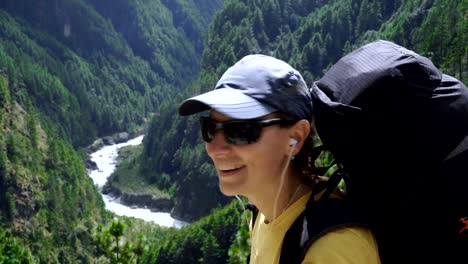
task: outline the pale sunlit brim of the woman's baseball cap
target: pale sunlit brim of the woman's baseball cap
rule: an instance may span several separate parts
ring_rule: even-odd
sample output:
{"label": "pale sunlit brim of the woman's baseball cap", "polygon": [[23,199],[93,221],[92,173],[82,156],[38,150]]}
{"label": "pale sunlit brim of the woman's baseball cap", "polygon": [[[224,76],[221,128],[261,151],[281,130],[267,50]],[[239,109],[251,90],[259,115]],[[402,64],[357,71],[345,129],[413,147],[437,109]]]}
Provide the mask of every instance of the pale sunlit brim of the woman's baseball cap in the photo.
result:
{"label": "pale sunlit brim of the woman's baseball cap", "polygon": [[179,107],[179,114],[187,116],[209,109],[235,119],[257,118],[276,111],[238,89],[226,87],[185,100]]}

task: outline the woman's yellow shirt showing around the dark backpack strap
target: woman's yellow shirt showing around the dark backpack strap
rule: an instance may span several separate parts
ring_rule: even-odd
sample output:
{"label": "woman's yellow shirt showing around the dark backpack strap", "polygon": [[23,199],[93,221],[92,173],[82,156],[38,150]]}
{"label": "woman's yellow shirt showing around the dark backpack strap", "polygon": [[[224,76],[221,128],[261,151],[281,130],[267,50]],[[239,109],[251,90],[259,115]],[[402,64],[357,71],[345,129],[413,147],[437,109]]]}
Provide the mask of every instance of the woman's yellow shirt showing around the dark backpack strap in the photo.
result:
{"label": "woman's yellow shirt showing around the dark backpack strap", "polygon": [[[304,211],[311,193],[302,196],[271,223],[258,214],[252,230],[251,264],[279,263],[283,238],[296,218]],[[379,264],[377,243],[372,233],[362,227],[331,231],[315,241],[303,264]]]}

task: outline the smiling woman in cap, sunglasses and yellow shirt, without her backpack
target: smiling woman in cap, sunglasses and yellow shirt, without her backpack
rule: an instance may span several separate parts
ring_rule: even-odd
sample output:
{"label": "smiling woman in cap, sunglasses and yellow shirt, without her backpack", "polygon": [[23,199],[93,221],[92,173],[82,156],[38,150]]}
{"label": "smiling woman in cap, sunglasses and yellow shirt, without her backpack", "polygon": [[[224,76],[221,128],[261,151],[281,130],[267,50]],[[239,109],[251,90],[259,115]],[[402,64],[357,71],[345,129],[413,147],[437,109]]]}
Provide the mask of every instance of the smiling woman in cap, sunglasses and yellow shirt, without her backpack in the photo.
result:
{"label": "smiling woman in cap, sunglasses and yellow shirt, without her backpack", "polygon": [[[246,56],[223,74],[213,91],[179,108],[181,115],[202,111],[208,112],[200,119],[202,136],[221,192],[245,196],[259,210],[251,231],[250,263],[287,263],[281,258],[283,239],[312,199],[317,179],[309,159],[312,101],[302,76],[273,57]],[[312,201],[320,195],[314,193]],[[302,263],[380,261],[372,233],[349,226],[320,236]]]}

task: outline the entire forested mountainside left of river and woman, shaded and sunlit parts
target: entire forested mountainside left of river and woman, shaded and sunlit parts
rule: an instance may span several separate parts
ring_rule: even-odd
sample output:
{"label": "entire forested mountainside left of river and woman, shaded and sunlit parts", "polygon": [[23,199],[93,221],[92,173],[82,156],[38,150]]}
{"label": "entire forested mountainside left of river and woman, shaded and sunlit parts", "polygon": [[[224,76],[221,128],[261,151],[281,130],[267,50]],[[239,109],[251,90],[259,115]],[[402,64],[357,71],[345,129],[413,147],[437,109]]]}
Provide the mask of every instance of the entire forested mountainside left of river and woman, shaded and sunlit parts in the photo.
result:
{"label": "entire forested mountainside left of river and woman, shaded and sunlit parts", "polygon": [[110,215],[77,149],[172,104],[221,5],[0,1],[0,263],[95,262]]}

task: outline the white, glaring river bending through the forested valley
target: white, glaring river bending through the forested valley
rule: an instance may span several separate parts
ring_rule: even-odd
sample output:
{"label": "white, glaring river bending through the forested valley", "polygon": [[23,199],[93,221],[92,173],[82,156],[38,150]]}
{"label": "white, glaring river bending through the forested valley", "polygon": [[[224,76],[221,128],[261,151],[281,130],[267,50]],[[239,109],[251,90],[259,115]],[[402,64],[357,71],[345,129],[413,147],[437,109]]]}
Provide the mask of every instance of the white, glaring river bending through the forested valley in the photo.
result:
{"label": "white, glaring river bending through the forested valley", "polygon": [[[102,186],[106,183],[107,178],[115,170],[118,150],[129,145],[139,145],[142,140],[143,136],[139,136],[130,139],[127,142],[104,146],[91,154],[91,160],[97,164],[98,169],[89,170],[88,175],[93,179],[94,184],[99,188],[99,190],[101,190]],[[180,228],[186,225],[185,222],[172,218],[169,213],[151,212],[149,209],[145,208],[128,207],[119,203],[119,199],[115,199],[109,195],[102,194],[102,198],[106,204],[106,209],[116,213],[117,215],[140,218],[166,227]]]}

